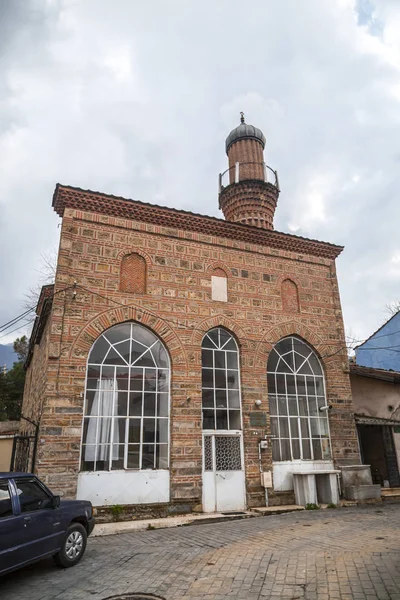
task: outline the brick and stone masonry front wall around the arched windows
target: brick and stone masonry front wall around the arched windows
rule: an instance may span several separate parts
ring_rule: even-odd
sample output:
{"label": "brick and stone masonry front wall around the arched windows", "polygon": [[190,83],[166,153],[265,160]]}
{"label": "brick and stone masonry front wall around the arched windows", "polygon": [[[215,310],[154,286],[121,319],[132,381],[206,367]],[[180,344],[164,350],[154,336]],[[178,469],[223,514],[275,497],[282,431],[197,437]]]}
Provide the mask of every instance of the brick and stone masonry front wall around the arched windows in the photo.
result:
{"label": "brick and stone masonry front wall around the arched windows", "polygon": [[[120,291],[121,261],[132,252],[146,261],[145,294]],[[227,303],[211,300],[216,268],[228,274]],[[287,278],[297,285],[296,314],[282,308],[281,287]],[[74,281],[75,290],[60,292]],[[249,506],[264,503],[258,442],[270,433],[269,421],[265,428],[251,426],[250,413],[268,413],[267,358],[283,336],[299,335],[319,353],[333,405],[329,420],[335,463],[359,462],[333,261],[67,208],[55,291],[37,470],[57,492],[76,493],[90,347],[102,331],[128,319],[150,327],[171,357],[172,503],[201,503],[200,349],[204,334],[216,326],[230,330],[240,348]],[[32,361],[29,370],[34,368]],[[257,399],[262,400],[260,408],[254,404]],[[270,469],[271,449],[263,451],[262,460],[263,470]],[[269,496],[271,503],[279,502]]]}

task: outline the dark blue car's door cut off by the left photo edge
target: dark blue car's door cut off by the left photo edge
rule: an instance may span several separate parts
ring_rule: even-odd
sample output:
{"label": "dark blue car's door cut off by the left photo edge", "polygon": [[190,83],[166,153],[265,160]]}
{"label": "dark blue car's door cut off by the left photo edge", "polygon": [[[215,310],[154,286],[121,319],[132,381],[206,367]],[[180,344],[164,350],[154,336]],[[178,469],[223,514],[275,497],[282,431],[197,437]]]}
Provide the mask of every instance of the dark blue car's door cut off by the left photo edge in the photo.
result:
{"label": "dark blue car's door cut off by the left photo edge", "polygon": [[12,488],[7,479],[0,481],[0,573],[21,563],[19,547],[22,524],[13,510]]}

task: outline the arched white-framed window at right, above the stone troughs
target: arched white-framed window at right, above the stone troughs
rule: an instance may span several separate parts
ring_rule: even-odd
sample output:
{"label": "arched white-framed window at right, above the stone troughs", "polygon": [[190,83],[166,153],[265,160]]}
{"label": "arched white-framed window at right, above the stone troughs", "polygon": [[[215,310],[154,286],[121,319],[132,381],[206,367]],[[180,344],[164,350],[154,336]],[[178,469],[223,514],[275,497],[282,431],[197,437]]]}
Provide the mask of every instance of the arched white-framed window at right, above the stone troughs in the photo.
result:
{"label": "arched white-framed window at right, above the stone troughs", "polygon": [[267,365],[272,459],[331,458],[325,380],[315,352],[287,337],[271,350]]}

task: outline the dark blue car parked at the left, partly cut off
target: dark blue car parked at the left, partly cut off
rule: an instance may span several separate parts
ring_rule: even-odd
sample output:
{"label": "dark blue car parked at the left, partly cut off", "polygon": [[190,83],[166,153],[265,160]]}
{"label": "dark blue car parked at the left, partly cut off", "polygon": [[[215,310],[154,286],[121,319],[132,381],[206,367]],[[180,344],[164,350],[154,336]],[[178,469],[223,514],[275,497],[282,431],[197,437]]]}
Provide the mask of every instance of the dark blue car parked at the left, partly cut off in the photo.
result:
{"label": "dark blue car parked at the left, partly cut off", "polygon": [[90,502],[60,501],[29,473],[0,473],[0,575],[47,556],[76,565],[94,523]]}

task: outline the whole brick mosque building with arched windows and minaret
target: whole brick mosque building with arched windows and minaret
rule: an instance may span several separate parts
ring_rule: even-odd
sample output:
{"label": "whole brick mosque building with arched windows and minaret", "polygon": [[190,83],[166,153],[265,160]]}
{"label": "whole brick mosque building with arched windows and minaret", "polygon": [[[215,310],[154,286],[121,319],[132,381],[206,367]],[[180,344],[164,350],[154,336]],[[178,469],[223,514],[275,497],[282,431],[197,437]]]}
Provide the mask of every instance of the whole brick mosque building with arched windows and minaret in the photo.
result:
{"label": "whole brick mosque building with arched windows and minaret", "polygon": [[293,470],[359,463],[342,248],[273,230],[264,145],[244,120],[228,136],[226,220],[56,186],[56,280],[23,413],[40,419],[37,473],[61,494],[141,514],[241,510],[267,501],[260,471],[280,504]]}

